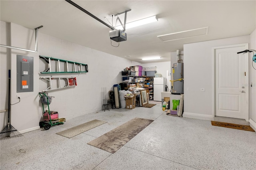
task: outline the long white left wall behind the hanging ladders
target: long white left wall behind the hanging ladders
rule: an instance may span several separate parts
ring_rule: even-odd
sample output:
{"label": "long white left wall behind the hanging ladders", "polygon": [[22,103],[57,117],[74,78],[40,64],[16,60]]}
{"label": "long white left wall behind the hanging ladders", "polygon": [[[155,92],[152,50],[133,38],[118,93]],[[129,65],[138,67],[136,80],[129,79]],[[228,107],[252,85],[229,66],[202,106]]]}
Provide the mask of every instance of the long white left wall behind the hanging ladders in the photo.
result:
{"label": "long white left wall behind the hanging ladders", "polygon": [[[0,24],[1,44],[7,44],[10,41],[11,43],[8,45],[11,46],[35,48],[34,30],[14,23],[8,24],[1,21]],[[140,65],[140,63],[42,34],[40,30],[38,40],[38,53],[1,47],[1,110],[8,107],[6,105],[6,102],[8,103],[6,97],[8,95],[8,75],[6,73],[8,73],[8,69],[11,69],[11,103],[18,102],[17,95],[21,96],[20,103],[11,107],[11,125],[21,133],[39,128],[39,121],[42,118],[38,92],[46,89],[47,85],[39,77],[49,75],[39,74],[46,67],[44,61],[39,59],[39,55],[88,64],[88,73],[53,75],[55,77],[72,76],[77,79],[76,87],[49,91],[49,95],[54,96],[50,110],[58,111],[59,117],[66,119],[101,110],[101,88],[106,87],[107,92],[113,90],[113,85],[122,80],[120,71],[130,65]],[[11,50],[11,54],[6,52],[8,50]],[[33,92],[16,93],[17,54],[34,57]],[[0,128],[2,129],[7,124],[7,112],[0,114]]]}

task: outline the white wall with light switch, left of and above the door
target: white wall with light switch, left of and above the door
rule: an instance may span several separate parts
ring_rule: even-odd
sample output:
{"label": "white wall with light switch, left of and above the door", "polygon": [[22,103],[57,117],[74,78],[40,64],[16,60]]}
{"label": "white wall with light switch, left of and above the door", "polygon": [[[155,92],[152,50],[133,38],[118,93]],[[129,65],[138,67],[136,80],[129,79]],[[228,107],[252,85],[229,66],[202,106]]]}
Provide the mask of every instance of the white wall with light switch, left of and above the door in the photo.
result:
{"label": "white wall with light switch, left of and above the door", "polygon": [[239,43],[250,43],[250,36],[184,44],[184,117],[213,120],[212,47]]}

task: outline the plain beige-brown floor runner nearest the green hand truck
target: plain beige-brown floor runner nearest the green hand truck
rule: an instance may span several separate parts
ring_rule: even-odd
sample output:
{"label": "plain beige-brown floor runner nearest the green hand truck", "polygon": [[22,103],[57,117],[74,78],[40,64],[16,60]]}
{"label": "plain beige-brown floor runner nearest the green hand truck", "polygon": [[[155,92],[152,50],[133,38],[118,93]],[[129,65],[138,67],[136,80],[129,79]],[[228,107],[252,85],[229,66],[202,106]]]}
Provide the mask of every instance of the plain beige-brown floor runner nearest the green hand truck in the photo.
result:
{"label": "plain beige-brown floor runner nearest the green hand truck", "polygon": [[87,130],[90,130],[92,128],[95,128],[95,127],[98,127],[104,123],[107,123],[105,121],[99,121],[99,120],[93,120],[93,121],[90,121],[90,122],[87,122],[87,123],[84,123],[82,125],[78,125],[76,127],[72,127],[72,128],[69,128],[67,130],[63,130],[61,132],[58,132],[56,134],[59,134],[61,136],[65,136],[67,138],[72,138],[82,132],[85,132]]}

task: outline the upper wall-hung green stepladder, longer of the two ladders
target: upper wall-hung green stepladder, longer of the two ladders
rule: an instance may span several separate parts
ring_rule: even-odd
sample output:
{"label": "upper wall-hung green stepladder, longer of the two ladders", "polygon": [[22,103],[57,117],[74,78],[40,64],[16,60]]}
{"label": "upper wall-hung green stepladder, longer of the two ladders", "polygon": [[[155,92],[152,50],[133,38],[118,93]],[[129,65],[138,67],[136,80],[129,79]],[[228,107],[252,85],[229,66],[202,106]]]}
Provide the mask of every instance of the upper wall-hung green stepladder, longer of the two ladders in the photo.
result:
{"label": "upper wall-hung green stepladder, longer of the two ladders", "polygon": [[[77,63],[74,61],[67,61],[64,59],[57,59],[57,58],[52,58],[52,57],[46,57],[44,55],[39,55],[41,59],[46,61],[48,63],[48,68],[45,69],[44,71],[41,72],[41,74],[46,74],[46,73],[87,73],[88,72],[88,65],[87,64],[82,64],[82,63]],[[55,71],[52,71],[52,62],[57,63],[57,68]],[[65,68],[60,68],[61,63]],[[69,67],[72,67],[69,69]]]}

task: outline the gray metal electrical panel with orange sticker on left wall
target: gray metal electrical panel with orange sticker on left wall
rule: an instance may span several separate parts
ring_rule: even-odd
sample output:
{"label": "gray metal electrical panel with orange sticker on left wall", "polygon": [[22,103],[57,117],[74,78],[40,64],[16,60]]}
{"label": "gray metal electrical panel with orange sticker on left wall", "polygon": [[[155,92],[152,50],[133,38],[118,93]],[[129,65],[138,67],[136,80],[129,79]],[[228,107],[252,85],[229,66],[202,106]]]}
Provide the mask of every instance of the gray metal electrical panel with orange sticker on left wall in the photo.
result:
{"label": "gray metal electrical panel with orange sticker on left wall", "polygon": [[17,93],[33,91],[34,58],[17,55]]}

